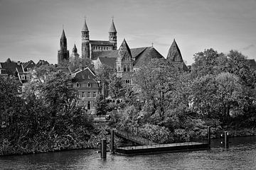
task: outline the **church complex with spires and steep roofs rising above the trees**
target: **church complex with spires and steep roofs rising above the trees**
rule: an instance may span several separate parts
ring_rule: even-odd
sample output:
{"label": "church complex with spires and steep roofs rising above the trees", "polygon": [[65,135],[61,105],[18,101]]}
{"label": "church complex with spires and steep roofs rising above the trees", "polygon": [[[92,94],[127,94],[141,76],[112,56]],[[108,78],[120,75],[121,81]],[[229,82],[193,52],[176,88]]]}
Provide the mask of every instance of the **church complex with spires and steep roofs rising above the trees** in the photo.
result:
{"label": "church complex with spires and steep roofs rising above the trees", "polygon": [[[99,69],[102,64],[112,67],[117,72],[117,77],[122,77],[125,83],[131,83],[131,76],[133,72],[142,67],[153,58],[164,58],[153,46],[129,48],[126,40],[117,49],[117,29],[114,26],[114,20],[110,23],[110,30],[108,31],[109,40],[90,40],[90,31],[87,27],[86,21],[82,24],[82,51],[81,58],[89,58],[95,65],[95,70]],[[65,32],[60,38],[60,50],[58,50],[58,65],[61,66],[65,60],[74,60],[80,55],[76,45],[73,47],[73,53],[69,55],[67,49],[67,38]],[[180,70],[188,71],[188,67],[183,62],[181,51],[178,48],[176,40],[169,48],[166,60],[171,60]]]}

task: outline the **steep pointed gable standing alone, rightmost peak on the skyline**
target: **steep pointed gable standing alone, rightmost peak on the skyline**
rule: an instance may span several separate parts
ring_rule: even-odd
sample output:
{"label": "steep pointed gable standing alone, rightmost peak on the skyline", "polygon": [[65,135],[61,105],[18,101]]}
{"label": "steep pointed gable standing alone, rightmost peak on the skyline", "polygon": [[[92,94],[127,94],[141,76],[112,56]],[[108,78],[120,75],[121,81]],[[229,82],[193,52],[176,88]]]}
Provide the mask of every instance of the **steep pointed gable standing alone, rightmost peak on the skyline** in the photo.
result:
{"label": "steep pointed gable standing alone, rightmost peak on the skyline", "polygon": [[179,50],[175,39],[174,42],[172,42],[171,47],[169,48],[166,60],[171,60],[172,62],[183,62],[181,51]]}

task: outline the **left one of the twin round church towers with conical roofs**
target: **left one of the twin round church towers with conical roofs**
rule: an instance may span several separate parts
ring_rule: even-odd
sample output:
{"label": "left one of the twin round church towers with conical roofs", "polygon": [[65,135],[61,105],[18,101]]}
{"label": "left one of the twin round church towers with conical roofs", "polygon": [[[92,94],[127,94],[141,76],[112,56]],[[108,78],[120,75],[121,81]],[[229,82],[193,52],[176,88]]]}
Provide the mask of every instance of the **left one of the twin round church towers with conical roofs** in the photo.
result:
{"label": "left one of the twin round church towers with conical roofs", "polygon": [[86,21],[82,26],[82,59],[90,58],[90,38],[89,38],[89,30],[86,25]]}

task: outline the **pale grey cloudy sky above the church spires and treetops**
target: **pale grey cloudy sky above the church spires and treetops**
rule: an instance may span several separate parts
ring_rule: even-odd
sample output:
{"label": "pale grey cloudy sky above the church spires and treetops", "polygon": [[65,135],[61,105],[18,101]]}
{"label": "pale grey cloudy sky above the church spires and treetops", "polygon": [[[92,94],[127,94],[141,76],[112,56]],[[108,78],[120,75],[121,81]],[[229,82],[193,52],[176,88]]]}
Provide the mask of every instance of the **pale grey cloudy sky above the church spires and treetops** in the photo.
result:
{"label": "pale grey cloudy sky above the church spires and treetops", "polygon": [[68,50],[81,54],[85,16],[90,40],[108,40],[114,16],[117,48],[153,42],[166,57],[175,38],[186,64],[208,48],[256,60],[255,9],[256,0],[0,0],[0,62],[57,63],[63,26]]}

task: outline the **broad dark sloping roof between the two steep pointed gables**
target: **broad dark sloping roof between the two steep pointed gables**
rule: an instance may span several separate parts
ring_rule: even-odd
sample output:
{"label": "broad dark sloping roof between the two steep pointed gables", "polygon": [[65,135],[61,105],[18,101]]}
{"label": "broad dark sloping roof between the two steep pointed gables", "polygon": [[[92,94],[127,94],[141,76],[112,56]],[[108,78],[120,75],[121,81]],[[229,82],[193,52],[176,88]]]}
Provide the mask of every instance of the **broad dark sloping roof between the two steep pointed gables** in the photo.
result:
{"label": "broad dark sloping roof between the two steep pointed gables", "polygon": [[135,56],[134,67],[142,67],[151,59],[164,58],[154,47],[145,47],[145,49]]}

